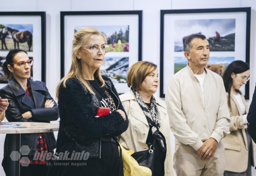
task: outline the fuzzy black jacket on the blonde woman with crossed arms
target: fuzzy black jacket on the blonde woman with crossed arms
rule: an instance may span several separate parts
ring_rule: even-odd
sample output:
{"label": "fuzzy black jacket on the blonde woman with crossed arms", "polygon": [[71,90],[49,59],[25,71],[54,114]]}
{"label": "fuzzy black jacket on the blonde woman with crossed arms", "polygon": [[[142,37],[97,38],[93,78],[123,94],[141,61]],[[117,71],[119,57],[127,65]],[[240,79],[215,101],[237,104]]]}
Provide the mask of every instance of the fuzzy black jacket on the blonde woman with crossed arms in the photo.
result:
{"label": "fuzzy black jacket on the blonde woman with crossed arms", "polygon": [[[116,102],[117,109],[125,112],[114,84],[107,76],[105,88]],[[84,89],[76,78],[70,78],[59,90],[60,129],[56,152],[89,152],[90,158],[100,157],[101,140],[106,135],[116,137],[128,128],[128,118],[124,121],[120,113],[114,111],[107,116],[96,118],[100,107],[98,98]],[[118,105],[119,104],[119,105]]]}

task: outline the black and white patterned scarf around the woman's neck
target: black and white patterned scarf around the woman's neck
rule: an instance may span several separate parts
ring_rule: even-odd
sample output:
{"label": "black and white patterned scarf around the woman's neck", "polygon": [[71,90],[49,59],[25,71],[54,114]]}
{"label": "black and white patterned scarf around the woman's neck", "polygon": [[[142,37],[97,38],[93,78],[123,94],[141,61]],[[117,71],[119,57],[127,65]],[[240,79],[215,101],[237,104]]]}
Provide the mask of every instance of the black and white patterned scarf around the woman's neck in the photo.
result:
{"label": "black and white patterned scarf around the woman's neck", "polygon": [[133,92],[133,96],[135,97],[136,101],[139,103],[140,108],[143,110],[147,120],[148,124],[152,129],[153,138],[156,139],[159,143],[159,146],[162,151],[166,151],[166,143],[165,139],[159,134],[159,128],[161,126],[161,118],[160,113],[158,111],[158,108],[156,106],[156,99],[154,96],[151,97],[150,100],[150,109],[147,107],[147,105],[144,103],[144,101],[141,99],[140,94],[131,88]]}

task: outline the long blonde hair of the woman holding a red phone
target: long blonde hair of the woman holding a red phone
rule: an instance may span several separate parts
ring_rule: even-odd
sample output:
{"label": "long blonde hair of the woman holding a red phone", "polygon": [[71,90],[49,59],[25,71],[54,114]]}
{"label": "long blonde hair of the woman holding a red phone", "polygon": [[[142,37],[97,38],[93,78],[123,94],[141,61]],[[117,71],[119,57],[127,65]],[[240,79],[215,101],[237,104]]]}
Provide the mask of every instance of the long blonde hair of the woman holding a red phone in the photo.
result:
{"label": "long blonde hair of the woman holding a red phone", "polygon": [[[90,36],[92,35],[100,35],[103,37],[105,43],[107,44],[107,38],[104,34],[100,33],[97,29],[94,28],[82,28],[79,31],[77,31],[74,35],[73,41],[72,41],[72,63],[71,67],[68,71],[68,74],[64,76],[61,80],[60,83],[57,86],[56,89],[56,99],[59,97],[59,90],[60,90],[60,85],[63,83],[63,86],[66,87],[66,81],[69,78],[76,78],[78,79],[84,86],[85,90],[88,92],[91,92],[92,94],[95,94],[88,83],[83,77],[83,69],[81,65],[81,60],[77,58],[78,52],[80,51],[81,47],[86,43],[86,41],[89,39]],[[100,87],[103,87],[105,85],[105,81],[101,77],[100,74],[100,68],[98,68],[94,76],[97,76],[99,81],[102,83]]]}

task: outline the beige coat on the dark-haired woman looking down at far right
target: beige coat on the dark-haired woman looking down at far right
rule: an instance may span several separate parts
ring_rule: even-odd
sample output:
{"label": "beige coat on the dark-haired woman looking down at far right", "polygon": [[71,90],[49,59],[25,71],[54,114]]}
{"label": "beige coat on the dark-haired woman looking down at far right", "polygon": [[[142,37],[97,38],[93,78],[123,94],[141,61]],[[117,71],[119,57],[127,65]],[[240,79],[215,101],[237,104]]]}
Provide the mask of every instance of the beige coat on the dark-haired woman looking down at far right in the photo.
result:
{"label": "beige coat on the dark-haired woman looking down at far right", "polygon": [[[246,105],[244,95],[241,95],[241,97],[245,106],[245,113],[247,114],[248,107]],[[230,103],[230,134],[222,139],[222,144],[225,148],[225,171],[244,172],[246,171],[248,164],[248,146],[242,118],[243,114],[241,114],[240,106],[233,94],[230,95]],[[252,166],[253,165],[252,141]]]}

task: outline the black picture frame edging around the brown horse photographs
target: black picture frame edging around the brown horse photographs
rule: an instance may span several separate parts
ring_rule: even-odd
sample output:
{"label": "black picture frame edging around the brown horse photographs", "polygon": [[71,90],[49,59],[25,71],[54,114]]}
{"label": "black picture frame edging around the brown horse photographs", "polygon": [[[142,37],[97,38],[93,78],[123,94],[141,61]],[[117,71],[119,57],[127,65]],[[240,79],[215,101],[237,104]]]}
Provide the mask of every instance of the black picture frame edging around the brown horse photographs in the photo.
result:
{"label": "black picture frame edging around the brown horse photographs", "polygon": [[[24,18],[39,16],[41,18],[41,81],[45,82],[46,81],[46,13],[45,12],[0,12],[0,17],[1,16],[13,16],[13,17],[21,16]],[[19,23],[19,21],[17,21],[17,23]]]}

